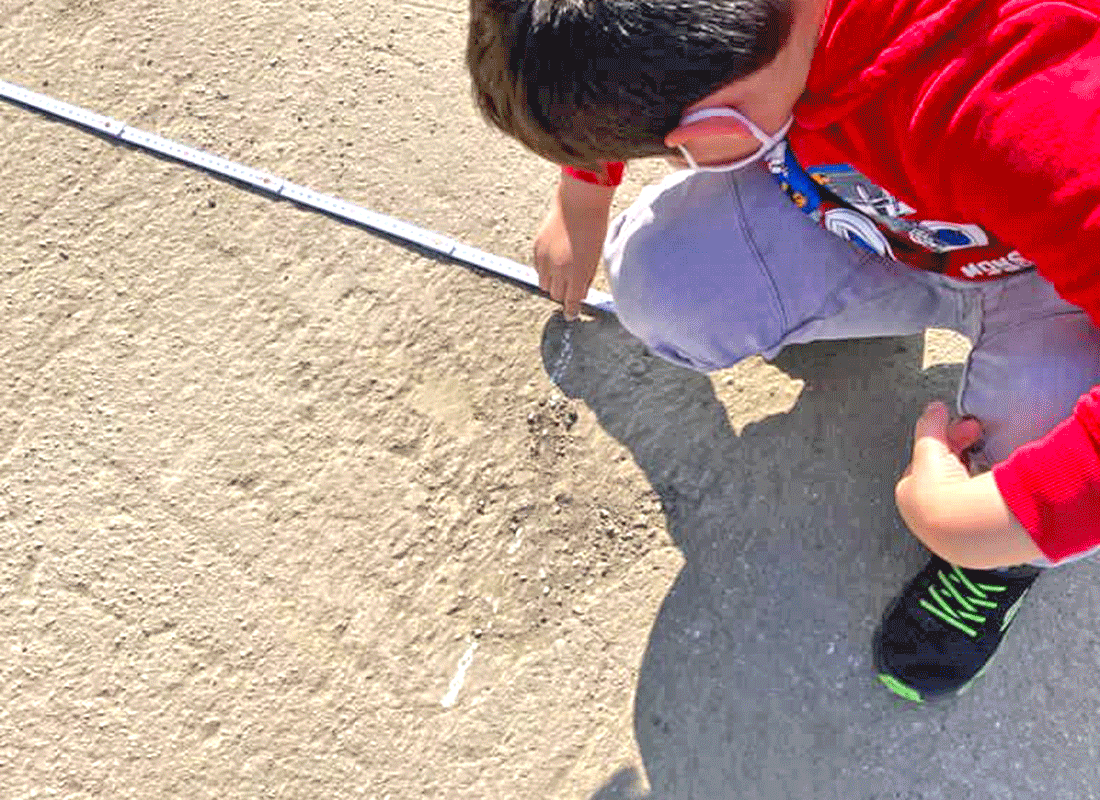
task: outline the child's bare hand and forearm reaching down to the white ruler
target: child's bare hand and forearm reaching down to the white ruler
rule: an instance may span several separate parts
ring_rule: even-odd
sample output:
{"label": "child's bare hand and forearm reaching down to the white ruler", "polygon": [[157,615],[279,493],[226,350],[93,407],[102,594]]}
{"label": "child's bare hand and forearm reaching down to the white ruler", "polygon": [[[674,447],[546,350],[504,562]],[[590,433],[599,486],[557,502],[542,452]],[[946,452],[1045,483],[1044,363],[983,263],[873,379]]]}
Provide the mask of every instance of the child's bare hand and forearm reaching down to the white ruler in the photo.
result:
{"label": "child's bare hand and forearm reaching down to the white ruler", "polygon": [[562,175],[542,226],[535,237],[539,286],[563,304],[574,319],[600,265],[614,188]]}

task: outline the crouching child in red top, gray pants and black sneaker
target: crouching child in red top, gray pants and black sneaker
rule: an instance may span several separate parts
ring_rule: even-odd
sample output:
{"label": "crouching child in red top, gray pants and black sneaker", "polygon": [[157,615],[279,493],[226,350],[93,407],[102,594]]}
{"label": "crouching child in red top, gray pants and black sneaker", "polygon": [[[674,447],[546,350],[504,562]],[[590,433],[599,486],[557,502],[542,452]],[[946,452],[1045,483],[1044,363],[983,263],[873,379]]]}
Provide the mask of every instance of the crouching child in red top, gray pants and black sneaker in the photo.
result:
{"label": "crouching child in red top, gray pants and black sneaker", "polygon": [[[971,418],[930,406],[897,490],[935,555],[873,644],[902,697],[966,689],[1040,568],[1100,546],[1100,0],[472,0],[468,64],[563,165],[536,264],[566,316],[602,251],[624,326],[697,370],[970,339]],[[650,156],[686,169],[608,230]]]}

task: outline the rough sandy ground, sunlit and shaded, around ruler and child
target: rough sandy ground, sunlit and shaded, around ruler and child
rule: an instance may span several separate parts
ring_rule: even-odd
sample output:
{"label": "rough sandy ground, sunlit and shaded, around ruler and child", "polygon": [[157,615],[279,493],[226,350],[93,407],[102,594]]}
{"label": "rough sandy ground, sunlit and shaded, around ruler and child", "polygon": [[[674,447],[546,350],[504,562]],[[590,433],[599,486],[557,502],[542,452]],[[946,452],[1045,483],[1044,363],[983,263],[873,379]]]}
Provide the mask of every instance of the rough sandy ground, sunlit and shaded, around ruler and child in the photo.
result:
{"label": "rough sandy ground, sunlit and shaded, around ruler and child", "polygon": [[[0,78],[526,260],[460,0],[0,3]],[[711,377],[0,105],[0,798],[1085,798],[1094,568],[875,683],[958,343]],[[636,171],[626,201],[660,167]],[[1072,595],[1074,603],[1064,602]]]}

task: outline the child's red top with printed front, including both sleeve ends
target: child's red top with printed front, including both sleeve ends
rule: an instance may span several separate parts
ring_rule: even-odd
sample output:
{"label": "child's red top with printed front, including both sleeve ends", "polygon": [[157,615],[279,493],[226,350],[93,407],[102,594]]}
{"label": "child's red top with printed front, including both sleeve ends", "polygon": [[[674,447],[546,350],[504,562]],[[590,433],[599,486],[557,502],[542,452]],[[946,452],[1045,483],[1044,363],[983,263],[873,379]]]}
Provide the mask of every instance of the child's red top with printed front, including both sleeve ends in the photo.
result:
{"label": "child's red top with printed front, including both sleeve ends", "polygon": [[[1100,325],[1100,0],[832,0],[794,116],[826,165],[780,176],[805,210],[853,206],[865,244],[955,277],[1034,264]],[[1100,387],[993,474],[1050,560],[1100,545]]]}

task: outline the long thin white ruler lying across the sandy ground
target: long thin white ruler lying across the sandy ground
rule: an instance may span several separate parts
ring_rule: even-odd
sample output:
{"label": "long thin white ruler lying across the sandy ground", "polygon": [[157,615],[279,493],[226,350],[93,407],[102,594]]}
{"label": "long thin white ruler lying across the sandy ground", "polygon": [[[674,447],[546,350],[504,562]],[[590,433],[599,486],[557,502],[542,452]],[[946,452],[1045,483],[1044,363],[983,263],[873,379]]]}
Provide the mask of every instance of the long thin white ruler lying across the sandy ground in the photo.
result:
{"label": "long thin white ruler lying across the sandy ground", "polygon": [[[405,222],[395,217],[371,211],[362,206],[356,206],[354,202],[342,200],[339,197],[314,191],[306,186],[292,184],[289,180],[285,180],[276,175],[253,169],[250,166],[228,161],[205,150],[198,150],[197,147],[174,142],[170,139],[164,139],[155,133],[147,133],[138,128],[132,128],[125,122],[103,117],[94,111],[82,109],[79,106],[70,106],[67,102],[55,100],[52,97],[40,95],[36,91],[24,89],[22,86],[9,84],[6,80],[0,80],[0,98],[18,106],[31,108],[35,111],[42,111],[52,117],[73,122],[87,130],[117,139],[151,153],[164,155],[184,164],[215,173],[216,175],[232,178],[274,197],[280,197],[292,202],[307,206],[308,208],[324,211],[363,228],[385,233],[410,244],[416,244],[452,261],[506,277],[509,281],[535,289],[539,288],[538,273],[526,264],[520,264],[499,255],[493,255],[484,250],[472,248],[469,244],[463,244],[454,239],[427,230],[426,228],[420,228],[410,222]],[[584,298],[584,304],[596,310],[609,314],[615,313],[615,304],[610,295],[606,292],[590,289],[587,296]]]}

